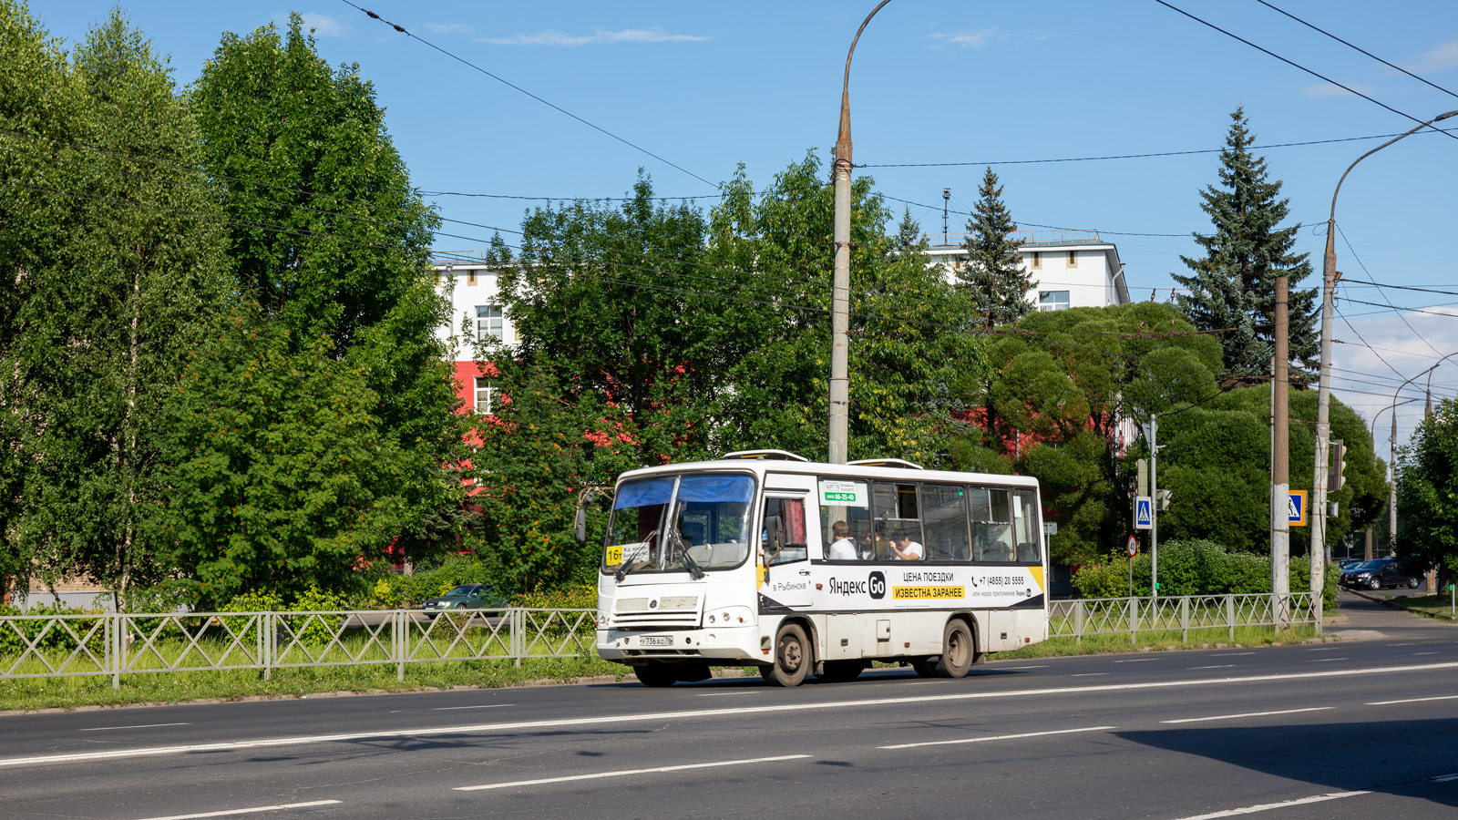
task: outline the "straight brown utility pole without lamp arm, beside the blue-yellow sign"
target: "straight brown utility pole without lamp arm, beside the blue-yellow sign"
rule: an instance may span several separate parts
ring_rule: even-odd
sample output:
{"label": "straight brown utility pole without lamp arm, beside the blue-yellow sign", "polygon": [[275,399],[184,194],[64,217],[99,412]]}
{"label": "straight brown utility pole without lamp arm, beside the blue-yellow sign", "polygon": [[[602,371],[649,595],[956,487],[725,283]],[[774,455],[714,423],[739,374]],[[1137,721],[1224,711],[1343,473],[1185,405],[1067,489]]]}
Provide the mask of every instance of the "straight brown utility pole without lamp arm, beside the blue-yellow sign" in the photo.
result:
{"label": "straight brown utility pole without lamp arm, beside the blue-yellow sign", "polygon": [[[1279,627],[1289,620],[1290,606],[1290,314],[1287,305],[1289,280],[1276,277],[1276,350],[1271,355],[1271,614]],[[1325,484],[1322,484],[1325,486]],[[1317,509],[1315,518],[1325,515]],[[1306,511],[1312,519],[1312,511]],[[1312,531],[1312,556],[1317,553]],[[1312,557],[1315,560],[1315,557]]]}

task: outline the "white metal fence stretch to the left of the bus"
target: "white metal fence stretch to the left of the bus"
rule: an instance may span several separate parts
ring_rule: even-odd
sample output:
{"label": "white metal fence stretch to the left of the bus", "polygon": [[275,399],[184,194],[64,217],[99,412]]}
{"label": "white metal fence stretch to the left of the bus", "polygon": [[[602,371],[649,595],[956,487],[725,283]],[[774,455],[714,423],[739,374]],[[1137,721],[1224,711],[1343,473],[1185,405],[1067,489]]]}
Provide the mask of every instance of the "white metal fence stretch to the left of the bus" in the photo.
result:
{"label": "white metal fence stretch to the left of the bus", "polygon": [[564,658],[592,652],[596,613],[507,607],[0,617],[0,680]]}

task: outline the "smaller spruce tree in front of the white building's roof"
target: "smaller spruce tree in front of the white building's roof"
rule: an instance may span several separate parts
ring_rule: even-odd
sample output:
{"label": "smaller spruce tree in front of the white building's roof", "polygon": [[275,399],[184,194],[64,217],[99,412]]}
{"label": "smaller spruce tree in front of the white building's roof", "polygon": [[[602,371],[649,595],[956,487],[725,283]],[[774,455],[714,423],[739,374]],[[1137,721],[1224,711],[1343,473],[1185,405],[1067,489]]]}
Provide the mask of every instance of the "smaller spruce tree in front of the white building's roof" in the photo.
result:
{"label": "smaller spruce tree in front of the white building's roof", "polygon": [[983,327],[1010,324],[1032,309],[1028,302],[1032,277],[1018,254],[1022,241],[1010,238],[1018,225],[1002,201],[1002,185],[990,166],[977,194],[972,217],[967,220],[967,242],[962,244],[967,264],[956,271],[956,283],[971,293]]}

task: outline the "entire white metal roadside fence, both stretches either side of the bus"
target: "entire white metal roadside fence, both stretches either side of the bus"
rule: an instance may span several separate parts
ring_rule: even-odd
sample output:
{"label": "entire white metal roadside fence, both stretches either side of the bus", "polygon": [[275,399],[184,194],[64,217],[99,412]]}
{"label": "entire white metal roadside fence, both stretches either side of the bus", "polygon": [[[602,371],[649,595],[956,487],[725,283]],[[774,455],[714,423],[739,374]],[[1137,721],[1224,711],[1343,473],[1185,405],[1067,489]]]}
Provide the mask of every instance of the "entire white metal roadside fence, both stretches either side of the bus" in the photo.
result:
{"label": "entire white metal roadside fence, both stretches either side of the bus", "polygon": [[[0,680],[29,677],[261,670],[439,661],[564,658],[590,654],[593,610],[321,610],[302,613],[36,614],[0,617]],[[1053,601],[1048,636],[1190,633],[1314,624],[1311,594],[1182,595]]]}

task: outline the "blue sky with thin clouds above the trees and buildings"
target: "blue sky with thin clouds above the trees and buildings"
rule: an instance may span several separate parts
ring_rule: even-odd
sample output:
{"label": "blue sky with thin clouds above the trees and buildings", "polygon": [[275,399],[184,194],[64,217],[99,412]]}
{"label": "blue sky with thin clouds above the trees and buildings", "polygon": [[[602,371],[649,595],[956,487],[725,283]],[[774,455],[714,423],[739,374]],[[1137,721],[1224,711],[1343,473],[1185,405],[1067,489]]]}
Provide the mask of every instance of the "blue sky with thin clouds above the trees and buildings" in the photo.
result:
{"label": "blue sky with thin clouds above the trees and buildings", "polygon": [[[1391,63],[1458,92],[1458,3],[1271,0]],[[1407,77],[1280,16],[1255,0],[1171,0],[1422,120],[1458,96]],[[873,3],[682,1],[464,3],[364,0],[359,6],[599,125],[690,174],[640,153],[518,90],[366,18],[341,0],[295,10],[331,63],[359,63],[424,191],[510,197],[615,197],[639,166],[668,197],[712,197],[738,163],[755,182],[808,149],[834,144],[846,50]],[[32,12],[54,36],[77,39],[112,3],[50,0]],[[122,3],[191,82],[223,31],[286,20],[276,3]],[[1212,31],[1153,0],[1091,4],[894,0],[862,36],[851,70],[857,174],[940,232],[942,188],[971,210],[981,163],[994,163],[1024,228],[1098,229],[1118,245],[1136,299],[1165,301],[1207,232],[1198,191],[1213,153],[1085,162],[1021,162],[1220,147],[1244,105],[1258,144],[1369,137],[1413,123]],[[1458,120],[1454,120],[1458,123]],[[1324,222],[1341,171],[1381,140],[1260,150],[1284,181],[1298,250],[1319,279]],[[1337,206],[1337,267],[1350,279],[1458,292],[1452,179],[1458,143],[1417,134],[1365,160]],[[904,163],[964,163],[894,168]],[[443,216],[518,228],[534,203],[429,197]],[[716,200],[698,200],[710,207]],[[901,203],[891,203],[900,213]],[[965,216],[952,214],[959,231]],[[439,250],[486,245],[452,231]],[[1359,261],[1360,260],[1360,261]],[[1365,266],[1365,267],[1363,267]],[[1344,285],[1334,387],[1371,414],[1398,381],[1458,352],[1458,296]],[[1362,305],[1376,302],[1382,308]],[[1424,308],[1430,314],[1394,311]],[[1439,305],[1439,306],[1435,306]],[[1446,305],[1446,306],[1441,306]],[[1350,324],[1349,324],[1350,322]],[[1433,378],[1458,394],[1458,356]],[[1400,378],[1398,378],[1400,376]],[[1419,384],[1422,379],[1419,379]],[[1441,390],[1438,390],[1441,387]],[[1400,442],[1420,403],[1400,407]],[[1387,448],[1387,416],[1378,448]]]}

